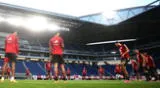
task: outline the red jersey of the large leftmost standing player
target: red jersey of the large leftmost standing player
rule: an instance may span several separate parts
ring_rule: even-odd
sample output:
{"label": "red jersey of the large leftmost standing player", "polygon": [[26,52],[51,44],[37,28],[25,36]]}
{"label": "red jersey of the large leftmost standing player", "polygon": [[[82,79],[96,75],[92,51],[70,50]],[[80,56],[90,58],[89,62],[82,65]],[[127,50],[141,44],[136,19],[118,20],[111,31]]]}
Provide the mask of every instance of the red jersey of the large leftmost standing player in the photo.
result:
{"label": "red jersey of the large leftmost standing player", "polygon": [[18,54],[18,52],[19,52],[18,37],[14,34],[10,34],[5,39],[5,53]]}

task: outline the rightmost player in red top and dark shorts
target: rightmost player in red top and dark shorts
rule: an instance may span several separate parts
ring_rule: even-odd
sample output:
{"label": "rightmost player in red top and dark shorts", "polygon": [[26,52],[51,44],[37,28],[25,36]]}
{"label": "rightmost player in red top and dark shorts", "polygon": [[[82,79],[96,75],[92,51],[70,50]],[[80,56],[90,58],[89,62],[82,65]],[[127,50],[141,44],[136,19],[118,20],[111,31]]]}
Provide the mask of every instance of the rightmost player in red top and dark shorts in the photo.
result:
{"label": "rightmost player in red top and dark shorts", "polygon": [[[149,72],[149,77],[154,77],[155,81],[158,80],[158,74],[156,71],[156,65],[152,58],[152,56],[148,55],[147,52],[144,52],[145,60],[146,60],[146,67]],[[151,78],[149,78],[151,80]]]}

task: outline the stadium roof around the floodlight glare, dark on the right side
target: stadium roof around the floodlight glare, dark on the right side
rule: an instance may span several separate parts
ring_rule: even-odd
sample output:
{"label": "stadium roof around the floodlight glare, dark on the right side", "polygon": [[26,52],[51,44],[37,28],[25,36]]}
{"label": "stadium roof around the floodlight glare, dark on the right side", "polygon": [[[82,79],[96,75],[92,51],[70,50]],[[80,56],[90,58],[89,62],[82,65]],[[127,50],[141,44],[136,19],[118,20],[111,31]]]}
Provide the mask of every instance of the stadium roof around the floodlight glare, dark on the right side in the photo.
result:
{"label": "stadium roof around the floodlight glare, dark on the right side", "polygon": [[[70,31],[62,32],[62,36],[65,38],[66,43],[86,44],[89,42],[159,36],[158,29],[160,29],[160,6],[149,9],[148,11],[132,17],[129,20],[112,26],[81,21],[72,16],[24,8],[4,3],[0,4],[0,12],[0,16],[5,18],[12,16],[27,18],[30,15],[40,15],[47,17],[51,23],[53,22],[61,27],[70,29]],[[37,24],[38,23],[39,22],[37,22]],[[31,38],[30,36],[33,36],[35,38],[41,39],[43,42],[48,42],[49,38],[54,34],[54,32],[51,31],[35,33],[29,31],[29,29],[13,26],[5,22],[0,23],[0,29],[2,32],[13,32],[16,30],[19,31],[21,36],[24,38]]]}

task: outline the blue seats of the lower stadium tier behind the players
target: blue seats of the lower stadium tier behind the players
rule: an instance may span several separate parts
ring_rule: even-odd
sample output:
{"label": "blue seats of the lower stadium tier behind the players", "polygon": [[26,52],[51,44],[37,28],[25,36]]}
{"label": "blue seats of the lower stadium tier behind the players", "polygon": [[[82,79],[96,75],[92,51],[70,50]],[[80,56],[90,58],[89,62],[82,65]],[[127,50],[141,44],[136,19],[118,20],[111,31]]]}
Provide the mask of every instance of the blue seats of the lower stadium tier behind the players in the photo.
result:
{"label": "blue seats of the lower stadium tier behind the players", "polygon": [[[0,60],[0,66],[2,67],[3,60]],[[71,75],[82,75],[82,70],[85,67],[87,69],[87,76],[98,76],[98,65],[88,65],[88,64],[77,64],[68,63],[65,64],[66,69],[70,68]],[[104,68],[105,76],[115,76],[115,65],[102,65]],[[46,75],[45,63],[42,61],[17,61],[16,73],[26,73],[26,69],[29,68],[32,75]],[[52,73],[53,73],[52,67]],[[127,66],[129,74],[132,75],[131,65]]]}

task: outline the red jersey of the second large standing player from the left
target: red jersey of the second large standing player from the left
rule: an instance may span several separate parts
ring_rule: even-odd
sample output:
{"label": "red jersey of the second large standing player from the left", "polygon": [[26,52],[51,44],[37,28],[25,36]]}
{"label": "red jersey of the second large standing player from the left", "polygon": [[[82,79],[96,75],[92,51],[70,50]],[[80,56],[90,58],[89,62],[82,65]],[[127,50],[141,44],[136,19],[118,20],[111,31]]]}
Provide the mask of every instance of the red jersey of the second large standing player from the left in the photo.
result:
{"label": "red jersey of the second large standing player from the left", "polygon": [[54,55],[63,54],[63,39],[59,36],[54,36],[50,39],[49,46],[51,47],[51,52]]}

